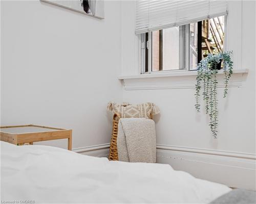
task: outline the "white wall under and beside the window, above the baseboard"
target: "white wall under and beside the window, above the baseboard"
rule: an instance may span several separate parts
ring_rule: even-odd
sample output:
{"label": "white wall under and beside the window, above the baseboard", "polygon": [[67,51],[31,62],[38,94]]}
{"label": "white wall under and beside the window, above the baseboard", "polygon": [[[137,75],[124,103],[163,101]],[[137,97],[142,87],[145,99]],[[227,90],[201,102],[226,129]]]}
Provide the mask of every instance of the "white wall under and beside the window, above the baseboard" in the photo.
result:
{"label": "white wall under and beside the window, above the baseboard", "polygon": [[[125,2],[131,5],[134,2]],[[223,88],[219,88],[218,139],[212,139],[208,117],[197,114],[194,104],[194,89],[125,90],[123,100],[131,103],[152,101],[161,110],[156,117],[157,143],[183,147],[218,149],[255,154],[255,2],[229,2],[227,19],[228,49],[233,50],[234,68],[249,69],[241,88],[229,88],[228,97],[223,99]],[[242,4],[242,6],[241,6]],[[122,14],[127,15],[123,6]],[[239,10],[242,8],[241,17]],[[129,10],[131,13],[131,10]],[[242,19],[239,20],[239,19]],[[129,20],[123,17],[123,20]],[[132,19],[133,20],[133,19]],[[127,23],[122,23],[122,37],[127,43],[135,39],[134,33],[126,32]],[[242,25],[242,28],[239,27]],[[130,28],[132,30],[133,28]],[[240,35],[242,32],[242,36]],[[240,38],[238,38],[240,35]],[[242,41],[241,41],[242,40]],[[135,41],[135,40],[133,40]],[[242,44],[242,47],[240,46]],[[136,50],[123,46],[122,55],[131,57]],[[242,52],[242,56],[241,56]],[[239,55],[240,54],[240,55]],[[123,66],[124,74],[136,74],[136,58],[125,59],[130,65]],[[240,62],[239,59],[242,59]],[[241,63],[241,67],[239,65]]]}

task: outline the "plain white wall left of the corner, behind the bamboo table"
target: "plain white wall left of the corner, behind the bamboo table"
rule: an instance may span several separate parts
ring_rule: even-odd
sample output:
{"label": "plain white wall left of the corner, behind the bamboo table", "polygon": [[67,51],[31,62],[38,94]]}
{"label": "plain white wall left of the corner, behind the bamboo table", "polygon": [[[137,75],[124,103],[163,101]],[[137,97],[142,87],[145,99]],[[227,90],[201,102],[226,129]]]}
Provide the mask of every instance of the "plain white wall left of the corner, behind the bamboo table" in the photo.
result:
{"label": "plain white wall left of the corner, behind the bamboo table", "polygon": [[40,1],[1,1],[1,125],[70,128],[73,148],[109,143],[106,104],[122,96],[120,12],[111,1],[104,20]]}

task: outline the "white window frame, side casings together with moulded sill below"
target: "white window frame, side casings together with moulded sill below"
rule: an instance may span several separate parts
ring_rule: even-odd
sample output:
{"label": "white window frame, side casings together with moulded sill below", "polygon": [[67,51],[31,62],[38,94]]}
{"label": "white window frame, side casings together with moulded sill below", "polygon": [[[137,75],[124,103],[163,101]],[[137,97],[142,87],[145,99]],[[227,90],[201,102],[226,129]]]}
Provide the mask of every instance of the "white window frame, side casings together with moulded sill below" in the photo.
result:
{"label": "white window frame, side casings together with moulded sill below", "polygon": [[[225,36],[224,36],[224,51],[233,50],[233,74],[230,78],[229,87],[241,87],[249,69],[243,67],[242,63],[242,1],[228,1],[228,15],[225,16]],[[135,5],[134,5],[135,8]],[[142,74],[141,62],[143,52],[141,49],[141,37],[135,33],[131,33],[129,27],[130,18],[127,18],[129,12],[122,13],[123,16],[123,32],[124,39],[122,52],[125,54],[121,60],[122,70],[118,79],[122,80],[125,90],[156,90],[156,89],[194,89],[195,77],[197,71],[159,71],[158,73]],[[134,41],[133,41],[134,40]],[[131,42],[132,49],[131,50]],[[127,55],[129,51],[129,55]],[[224,87],[223,72],[219,71],[219,87]]]}

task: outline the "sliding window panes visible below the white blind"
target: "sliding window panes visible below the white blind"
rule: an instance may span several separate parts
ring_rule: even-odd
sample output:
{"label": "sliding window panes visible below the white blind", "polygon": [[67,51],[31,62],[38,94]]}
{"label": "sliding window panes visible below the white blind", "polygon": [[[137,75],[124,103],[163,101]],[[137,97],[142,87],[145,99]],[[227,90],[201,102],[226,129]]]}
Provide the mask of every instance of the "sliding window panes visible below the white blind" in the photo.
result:
{"label": "sliding window panes visible below the white blind", "polygon": [[142,73],[196,70],[207,54],[223,50],[224,18],[220,16],[140,34]]}

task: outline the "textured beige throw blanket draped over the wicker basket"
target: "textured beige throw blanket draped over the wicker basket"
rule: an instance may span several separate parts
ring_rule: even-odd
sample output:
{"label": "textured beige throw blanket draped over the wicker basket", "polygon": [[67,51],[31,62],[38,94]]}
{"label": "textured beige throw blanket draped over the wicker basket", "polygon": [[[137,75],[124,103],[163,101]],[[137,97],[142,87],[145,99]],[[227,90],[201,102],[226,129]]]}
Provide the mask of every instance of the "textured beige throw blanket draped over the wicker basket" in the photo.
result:
{"label": "textured beige throw blanket draped over the wicker basket", "polygon": [[146,118],[120,118],[117,134],[118,160],[156,163],[155,122]]}

